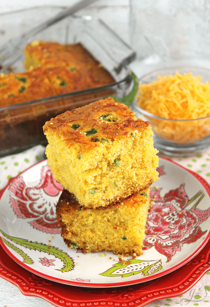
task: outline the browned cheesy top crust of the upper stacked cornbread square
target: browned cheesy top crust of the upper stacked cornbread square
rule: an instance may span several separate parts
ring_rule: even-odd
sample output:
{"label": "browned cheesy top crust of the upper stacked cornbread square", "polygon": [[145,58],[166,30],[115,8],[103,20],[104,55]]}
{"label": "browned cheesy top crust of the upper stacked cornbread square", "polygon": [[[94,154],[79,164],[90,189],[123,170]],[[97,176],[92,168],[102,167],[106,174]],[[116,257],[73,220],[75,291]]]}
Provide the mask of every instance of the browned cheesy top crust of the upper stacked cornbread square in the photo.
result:
{"label": "browned cheesy top crust of the upper stacked cornbread square", "polygon": [[86,151],[100,143],[147,130],[150,123],[137,119],[134,114],[129,107],[107,97],[56,116],[45,123],[43,130],[46,135],[61,137],[69,147],[77,143]]}

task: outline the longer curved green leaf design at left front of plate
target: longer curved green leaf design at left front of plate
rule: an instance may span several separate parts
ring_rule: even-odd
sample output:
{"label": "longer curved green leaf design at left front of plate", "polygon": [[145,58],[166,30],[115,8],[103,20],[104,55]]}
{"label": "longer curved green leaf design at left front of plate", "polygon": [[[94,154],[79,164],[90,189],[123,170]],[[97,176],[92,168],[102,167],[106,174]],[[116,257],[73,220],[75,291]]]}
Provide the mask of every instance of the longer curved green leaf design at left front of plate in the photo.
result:
{"label": "longer curved green leaf design at left front of plate", "polygon": [[0,229],[0,232],[9,240],[13,241],[16,244],[19,244],[25,248],[29,248],[30,250],[42,251],[47,253],[48,255],[54,255],[54,257],[59,258],[63,262],[62,269],[58,270],[61,272],[69,272],[73,270],[74,262],[71,257],[62,250],[59,250],[57,247],[46,245],[43,243],[28,241],[27,239],[16,238],[10,235],[7,235],[4,231]]}

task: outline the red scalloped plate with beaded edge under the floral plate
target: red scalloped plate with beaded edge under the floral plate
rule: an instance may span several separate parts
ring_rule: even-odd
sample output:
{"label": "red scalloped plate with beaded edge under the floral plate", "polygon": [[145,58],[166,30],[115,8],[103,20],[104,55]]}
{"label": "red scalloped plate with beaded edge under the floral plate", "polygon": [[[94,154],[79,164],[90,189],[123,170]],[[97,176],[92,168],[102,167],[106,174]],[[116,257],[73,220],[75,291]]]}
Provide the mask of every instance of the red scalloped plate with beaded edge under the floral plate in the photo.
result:
{"label": "red scalloped plate with beaded edge under the floral plate", "polygon": [[210,242],[181,268],[150,282],[120,288],[82,288],[39,277],[9,258],[0,246],[0,276],[26,296],[41,297],[54,306],[102,305],[142,307],[149,302],[176,297],[192,288],[210,270]]}

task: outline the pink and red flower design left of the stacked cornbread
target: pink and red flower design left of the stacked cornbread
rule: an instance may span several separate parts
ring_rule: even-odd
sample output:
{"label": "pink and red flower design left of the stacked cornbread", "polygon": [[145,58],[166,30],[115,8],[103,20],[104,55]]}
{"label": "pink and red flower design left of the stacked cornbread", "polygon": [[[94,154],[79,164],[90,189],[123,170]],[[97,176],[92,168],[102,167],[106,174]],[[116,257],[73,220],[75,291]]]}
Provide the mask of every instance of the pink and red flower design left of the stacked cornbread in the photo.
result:
{"label": "pink and red flower design left of the stacked cornbread", "polygon": [[47,233],[60,233],[55,206],[63,187],[55,181],[49,166],[43,166],[38,185],[27,187],[19,176],[9,186],[10,204],[21,219]]}

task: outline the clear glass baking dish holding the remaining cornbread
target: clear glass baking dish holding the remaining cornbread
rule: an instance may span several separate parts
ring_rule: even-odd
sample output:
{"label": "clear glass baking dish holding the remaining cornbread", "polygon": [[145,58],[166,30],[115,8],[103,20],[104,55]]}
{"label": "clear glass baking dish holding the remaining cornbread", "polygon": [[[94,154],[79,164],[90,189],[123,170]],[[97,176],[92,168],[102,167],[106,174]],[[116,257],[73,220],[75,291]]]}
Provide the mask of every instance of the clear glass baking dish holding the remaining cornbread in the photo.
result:
{"label": "clear glass baking dish holding the remaining cornbread", "polygon": [[[40,6],[0,14],[0,29],[4,33],[2,44],[11,38],[11,33],[19,37],[39,25],[43,18],[52,17],[62,9]],[[42,126],[60,113],[110,95],[129,104],[137,91],[137,78],[126,66],[134,60],[135,52],[102,20],[91,16],[69,16],[30,37],[27,43],[35,40],[81,43],[106,68],[115,82],[7,107],[1,107],[0,103],[0,157],[37,144],[47,145]],[[14,52],[3,62],[0,73],[25,71],[23,62],[24,55],[17,58]]]}

